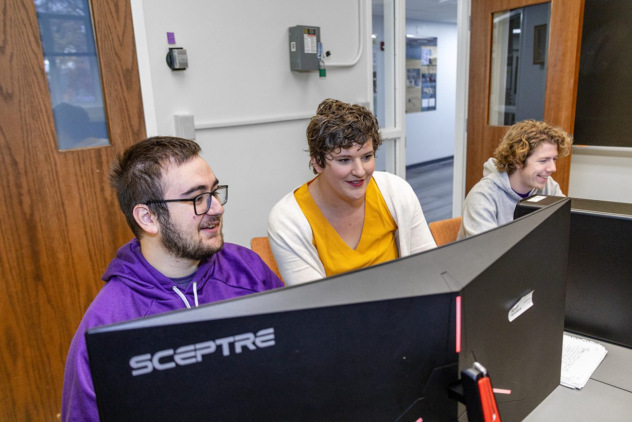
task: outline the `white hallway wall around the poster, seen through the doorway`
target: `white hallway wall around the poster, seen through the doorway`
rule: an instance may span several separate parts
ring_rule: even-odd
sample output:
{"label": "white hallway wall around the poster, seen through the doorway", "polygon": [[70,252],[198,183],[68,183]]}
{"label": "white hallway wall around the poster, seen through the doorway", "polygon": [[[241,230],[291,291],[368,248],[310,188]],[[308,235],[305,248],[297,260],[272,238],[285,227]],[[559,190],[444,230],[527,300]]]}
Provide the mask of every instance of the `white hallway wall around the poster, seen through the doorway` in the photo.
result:
{"label": "white hallway wall around the poster, seen through the doorway", "polygon": [[406,165],[453,156],[456,24],[406,20],[406,34],[437,37],[437,109],[406,114]]}

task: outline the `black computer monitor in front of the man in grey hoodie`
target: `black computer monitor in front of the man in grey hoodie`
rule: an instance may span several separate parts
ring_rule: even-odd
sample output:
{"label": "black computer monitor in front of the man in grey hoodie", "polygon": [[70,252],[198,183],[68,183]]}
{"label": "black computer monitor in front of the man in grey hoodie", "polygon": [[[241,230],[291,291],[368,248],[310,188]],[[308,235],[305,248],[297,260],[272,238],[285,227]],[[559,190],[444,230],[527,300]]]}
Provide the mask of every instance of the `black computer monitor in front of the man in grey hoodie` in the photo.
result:
{"label": "black computer monitor in front of the man in grey hoodie", "polygon": [[[515,217],[559,197],[518,202]],[[565,328],[632,347],[632,204],[571,198]]]}

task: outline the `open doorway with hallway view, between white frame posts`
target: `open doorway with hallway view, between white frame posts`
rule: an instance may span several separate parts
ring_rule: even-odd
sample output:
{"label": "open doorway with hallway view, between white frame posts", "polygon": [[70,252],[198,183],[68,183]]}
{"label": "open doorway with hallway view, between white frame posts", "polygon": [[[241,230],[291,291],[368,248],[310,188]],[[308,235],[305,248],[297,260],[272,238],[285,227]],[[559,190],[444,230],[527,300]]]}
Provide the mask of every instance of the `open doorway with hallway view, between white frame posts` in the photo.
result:
{"label": "open doorway with hallway view, between white frame posts", "polygon": [[453,214],[457,6],[406,1],[406,180],[428,222]]}

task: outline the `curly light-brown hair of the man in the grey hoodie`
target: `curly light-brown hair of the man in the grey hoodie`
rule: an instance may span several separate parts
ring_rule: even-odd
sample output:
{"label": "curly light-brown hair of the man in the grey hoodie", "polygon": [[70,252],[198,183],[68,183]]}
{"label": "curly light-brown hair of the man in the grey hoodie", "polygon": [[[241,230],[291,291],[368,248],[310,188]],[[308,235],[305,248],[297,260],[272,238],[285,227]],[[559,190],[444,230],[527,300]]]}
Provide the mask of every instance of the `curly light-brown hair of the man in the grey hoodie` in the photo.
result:
{"label": "curly light-brown hair of the man in the grey hoodie", "polygon": [[566,157],[573,144],[568,133],[559,127],[538,120],[519,121],[509,128],[494,151],[496,168],[511,175],[544,142],[557,145],[559,158]]}

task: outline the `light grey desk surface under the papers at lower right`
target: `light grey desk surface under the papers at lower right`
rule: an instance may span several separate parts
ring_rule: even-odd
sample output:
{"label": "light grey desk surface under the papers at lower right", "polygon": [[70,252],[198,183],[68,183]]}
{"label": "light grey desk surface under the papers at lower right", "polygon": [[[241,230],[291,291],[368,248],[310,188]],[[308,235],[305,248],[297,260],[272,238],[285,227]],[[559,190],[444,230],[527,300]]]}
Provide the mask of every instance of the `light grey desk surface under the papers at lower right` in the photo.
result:
{"label": "light grey desk surface under the papers at lower right", "polygon": [[[575,337],[584,337],[567,333]],[[594,340],[608,353],[581,390],[557,386],[525,421],[629,421],[632,415],[632,349]],[[502,415],[501,415],[502,416]]]}

